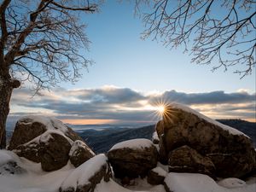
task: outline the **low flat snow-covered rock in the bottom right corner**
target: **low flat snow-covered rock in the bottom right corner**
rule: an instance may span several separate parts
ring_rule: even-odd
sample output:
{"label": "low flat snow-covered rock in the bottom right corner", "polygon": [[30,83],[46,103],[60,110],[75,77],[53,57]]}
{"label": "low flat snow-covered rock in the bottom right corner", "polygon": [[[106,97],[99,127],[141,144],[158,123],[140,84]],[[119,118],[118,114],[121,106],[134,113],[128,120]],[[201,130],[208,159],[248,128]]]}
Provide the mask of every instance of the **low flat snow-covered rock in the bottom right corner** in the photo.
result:
{"label": "low flat snow-covered rock in the bottom right corner", "polygon": [[256,183],[227,189],[218,185],[207,175],[170,172],[165,179],[165,188],[166,192],[253,192],[256,189]]}

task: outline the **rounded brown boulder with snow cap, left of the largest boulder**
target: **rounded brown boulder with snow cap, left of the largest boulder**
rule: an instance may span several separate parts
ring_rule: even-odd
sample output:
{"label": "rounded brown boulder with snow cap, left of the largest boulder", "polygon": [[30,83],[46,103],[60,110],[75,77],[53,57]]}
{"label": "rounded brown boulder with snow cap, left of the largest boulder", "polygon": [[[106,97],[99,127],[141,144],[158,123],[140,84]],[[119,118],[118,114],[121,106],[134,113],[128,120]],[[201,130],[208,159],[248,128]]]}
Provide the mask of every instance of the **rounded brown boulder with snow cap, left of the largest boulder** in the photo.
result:
{"label": "rounded brown boulder with snow cap, left of the largest boulder", "polygon": [[108,160],[115,177],[144,177],[156,166],[158,152],[148,139],[131,139],[110,148]]}

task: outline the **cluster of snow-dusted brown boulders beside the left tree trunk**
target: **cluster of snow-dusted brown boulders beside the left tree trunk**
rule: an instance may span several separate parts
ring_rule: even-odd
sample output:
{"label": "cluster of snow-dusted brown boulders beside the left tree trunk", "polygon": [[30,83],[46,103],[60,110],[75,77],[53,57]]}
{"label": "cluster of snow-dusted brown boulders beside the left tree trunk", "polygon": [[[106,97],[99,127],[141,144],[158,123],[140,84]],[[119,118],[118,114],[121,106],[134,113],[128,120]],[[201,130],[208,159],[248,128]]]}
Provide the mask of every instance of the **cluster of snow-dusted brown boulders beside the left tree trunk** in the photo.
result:
{"label": "cluster of snow-dusted brown boulders beside the left tree trunk", "polygon": [[[22,139],[19,139],[19,135]],[[68,160],[74,166],[79,166],[94,156],[80,139],[60,120],[30,116],[17,122],[9,149],[20,157],[41,163],[42,169],[50,172],[66,166]]]}

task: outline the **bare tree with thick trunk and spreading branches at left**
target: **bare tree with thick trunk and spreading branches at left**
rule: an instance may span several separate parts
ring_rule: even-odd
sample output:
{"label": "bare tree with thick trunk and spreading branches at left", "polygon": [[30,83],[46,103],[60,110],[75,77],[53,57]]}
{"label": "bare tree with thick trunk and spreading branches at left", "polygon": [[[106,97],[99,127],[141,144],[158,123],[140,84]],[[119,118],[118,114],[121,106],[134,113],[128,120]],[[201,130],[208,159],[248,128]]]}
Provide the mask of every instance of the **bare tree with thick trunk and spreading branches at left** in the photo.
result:
{"label": "bare tree with thick trunk and spreading branches at left", "polygon": [[93,13],[89,0],[3,0],[0,4],[0,148],[12,91],[28,80],[33,89],[75,81],[90,63],[80,53],[89,40],[81,13]]}

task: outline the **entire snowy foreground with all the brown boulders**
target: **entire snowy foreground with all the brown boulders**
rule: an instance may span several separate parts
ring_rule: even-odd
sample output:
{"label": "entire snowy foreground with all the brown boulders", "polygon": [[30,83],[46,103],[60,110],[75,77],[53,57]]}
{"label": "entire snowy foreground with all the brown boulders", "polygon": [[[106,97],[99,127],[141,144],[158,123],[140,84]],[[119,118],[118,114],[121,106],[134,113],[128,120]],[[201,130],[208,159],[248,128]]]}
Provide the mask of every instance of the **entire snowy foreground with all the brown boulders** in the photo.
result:
{"label": "entire snowy foreground with all the brown boulders", "polygon": [[178,104],[155,130],[154,143],[95,154],[60,120],[24,117],[0,150],[0,192],[256,191],[256,152],[242,132]]}

